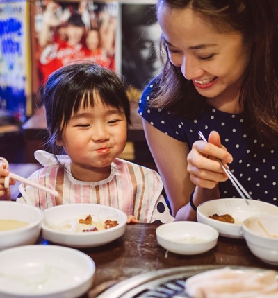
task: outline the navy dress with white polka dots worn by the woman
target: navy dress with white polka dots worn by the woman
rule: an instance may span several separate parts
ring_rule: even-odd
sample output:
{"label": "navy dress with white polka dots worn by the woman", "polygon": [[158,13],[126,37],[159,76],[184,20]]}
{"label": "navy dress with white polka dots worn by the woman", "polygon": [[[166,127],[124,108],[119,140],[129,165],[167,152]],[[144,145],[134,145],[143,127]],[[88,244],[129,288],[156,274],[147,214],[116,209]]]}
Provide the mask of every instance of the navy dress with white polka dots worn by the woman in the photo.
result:
{"label": "navy dress with white polka dots worn by the woman", "polygon": [[[229,168],[252,198],[278,206],[278,148],[267,148],[252,135],[242,114],[221,112],[209,105],[193,121],[175,116],[164,109],[147,107],[152,100],[154,81],[142,93],[139,114],[155,128],[170,137],[191,146],[202,131],[204,137],[215,130],[220,134],[222,145],[233,156]],[[229,180],[219,184],[221,198],[240,198]]]}

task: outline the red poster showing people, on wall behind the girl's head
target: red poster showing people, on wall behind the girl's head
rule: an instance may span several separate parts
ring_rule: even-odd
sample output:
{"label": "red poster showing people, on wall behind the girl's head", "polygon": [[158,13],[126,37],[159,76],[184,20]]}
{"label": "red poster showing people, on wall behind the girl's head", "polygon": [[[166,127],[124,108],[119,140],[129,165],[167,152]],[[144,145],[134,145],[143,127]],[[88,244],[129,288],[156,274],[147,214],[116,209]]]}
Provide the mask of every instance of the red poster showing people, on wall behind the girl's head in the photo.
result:
{"label": "red poster showing people, on wall behind the girl's head", "polygon": [[39,82],[65,64],[95,61],[115,69],[118,3],[35,0],[35,60]]}

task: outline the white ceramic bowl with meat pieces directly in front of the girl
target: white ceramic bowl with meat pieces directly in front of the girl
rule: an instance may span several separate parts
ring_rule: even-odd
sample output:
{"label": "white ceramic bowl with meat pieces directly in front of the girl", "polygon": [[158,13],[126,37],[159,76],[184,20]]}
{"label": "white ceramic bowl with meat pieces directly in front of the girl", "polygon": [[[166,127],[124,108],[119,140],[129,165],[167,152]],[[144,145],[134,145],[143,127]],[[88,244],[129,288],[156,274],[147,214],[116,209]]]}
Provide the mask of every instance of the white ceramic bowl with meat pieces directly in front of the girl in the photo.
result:
{"label": "white ceramic bowl with meat pieces directly in front of the girl", "polygon": [[[79,219],[88,215],[92,220],[104,222],[105,220],[116,220],[118,225],[101,231],[76,232],[73,229],[58,230],[70,223],[72,227]],[[70,247],[95,247],[110,243],[121,237],[126,229],[127,216],[124,212],[100,204],[66,204],[51,207],[44,210],[42,222],[42,238]]]}

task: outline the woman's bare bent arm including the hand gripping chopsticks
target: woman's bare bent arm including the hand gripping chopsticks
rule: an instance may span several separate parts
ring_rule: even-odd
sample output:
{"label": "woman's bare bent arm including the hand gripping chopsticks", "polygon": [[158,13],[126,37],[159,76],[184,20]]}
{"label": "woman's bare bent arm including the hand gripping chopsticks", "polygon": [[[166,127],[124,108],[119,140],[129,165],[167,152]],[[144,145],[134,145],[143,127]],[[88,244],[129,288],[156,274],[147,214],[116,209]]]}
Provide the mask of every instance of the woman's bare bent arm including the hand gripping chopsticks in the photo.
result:
{"label": "woman's bare bent arm including the hand gripping chopsticks", "polygon": [[187,143],[169,137],[144,119],[142,123],[174,218],[196,220],[196,211],[189,203],[191,193],[194,191],[193,204],[197,207],[207,200],[220,198],[218,182],[227,180],[219,162],[208,158],[209,153],[224,162],[231,162],[231,155],[218,147],[221,147],[220,141],[215,141],[215,136],[209,139],[215,144],[197,141],[189,152]]}

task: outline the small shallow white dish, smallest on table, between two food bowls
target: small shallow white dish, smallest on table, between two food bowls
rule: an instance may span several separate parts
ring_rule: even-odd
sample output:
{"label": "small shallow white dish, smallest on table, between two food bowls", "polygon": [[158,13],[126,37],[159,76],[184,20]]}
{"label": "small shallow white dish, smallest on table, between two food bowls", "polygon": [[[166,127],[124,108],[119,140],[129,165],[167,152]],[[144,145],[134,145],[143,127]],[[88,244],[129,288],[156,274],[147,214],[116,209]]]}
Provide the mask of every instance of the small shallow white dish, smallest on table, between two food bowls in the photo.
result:
{"label": "small shallow white dish, smallest on table, between two food bowls", "polygon": [[169,252],[202,254],[215,247],[218,231],[200,222],[170,222],[156,228],[156,239]]}

